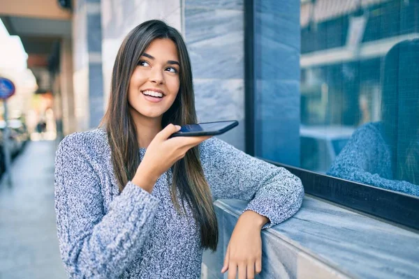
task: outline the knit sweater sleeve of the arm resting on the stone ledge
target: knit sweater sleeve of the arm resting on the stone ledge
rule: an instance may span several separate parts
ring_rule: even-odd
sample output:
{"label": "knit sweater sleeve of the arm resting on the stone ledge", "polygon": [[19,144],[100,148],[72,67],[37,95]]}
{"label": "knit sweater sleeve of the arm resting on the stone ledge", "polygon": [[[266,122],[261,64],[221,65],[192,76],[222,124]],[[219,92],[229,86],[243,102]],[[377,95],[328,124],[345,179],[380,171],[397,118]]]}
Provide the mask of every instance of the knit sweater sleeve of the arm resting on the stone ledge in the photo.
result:
{"label": "knit sweater sleeve of the arm resting on the stone ledge", "polygon": [[283,167],[249,156],[216,137],[200,144],[200,159],[214,199],[249,200],[245,211],[269,218],[264,228],[300,209],[302,183]]}

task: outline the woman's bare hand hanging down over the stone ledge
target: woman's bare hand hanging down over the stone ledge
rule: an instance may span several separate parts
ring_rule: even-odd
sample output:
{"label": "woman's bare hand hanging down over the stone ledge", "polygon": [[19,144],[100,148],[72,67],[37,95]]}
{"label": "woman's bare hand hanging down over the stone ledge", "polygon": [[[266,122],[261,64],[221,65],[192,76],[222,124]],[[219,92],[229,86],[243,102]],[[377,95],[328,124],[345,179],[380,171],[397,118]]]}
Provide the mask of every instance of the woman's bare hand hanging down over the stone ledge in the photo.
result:
{"label": "woman's bare hand hanging down over the stone ledge", "polygon": [[228,271],[228,279],[254,278],[262,271],[262,239],[260,230],[269,222],[265,216],[245,211],[231,234],[221,273]]}

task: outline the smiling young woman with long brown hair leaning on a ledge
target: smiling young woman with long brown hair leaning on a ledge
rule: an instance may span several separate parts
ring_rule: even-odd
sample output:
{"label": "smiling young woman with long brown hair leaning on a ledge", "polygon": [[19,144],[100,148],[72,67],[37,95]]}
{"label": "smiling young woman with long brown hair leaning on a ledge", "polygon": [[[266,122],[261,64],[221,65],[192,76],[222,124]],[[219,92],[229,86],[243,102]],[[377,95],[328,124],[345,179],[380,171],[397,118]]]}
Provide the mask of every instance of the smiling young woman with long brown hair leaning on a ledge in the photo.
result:
{"label": "smiling young woman with long brown hair leaning on a ledge", "polygon": [[221,272],[260,272],[260,229],[300,208],[301,181],[216,138],[168,139],[187,123],[196,112],[186,45],[164,22],[144,22],[119,48],[100,128],[57,150],[57,229],[72,278],[199,278],[203,250],[217,245],[215,199],[250,200]]}

